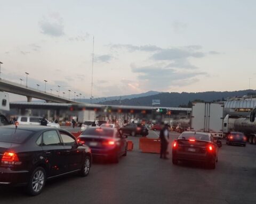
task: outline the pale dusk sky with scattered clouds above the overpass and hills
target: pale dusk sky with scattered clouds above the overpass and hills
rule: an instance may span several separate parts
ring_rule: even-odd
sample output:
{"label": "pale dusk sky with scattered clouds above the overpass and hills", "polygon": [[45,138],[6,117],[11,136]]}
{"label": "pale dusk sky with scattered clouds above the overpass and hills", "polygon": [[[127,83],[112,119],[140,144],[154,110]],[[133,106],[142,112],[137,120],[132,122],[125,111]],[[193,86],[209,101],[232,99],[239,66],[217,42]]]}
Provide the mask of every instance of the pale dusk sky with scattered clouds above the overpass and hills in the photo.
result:
{"label": "pale dusk sky with scattered clouds above the overpass and hills", "polygon": [[[256,1],[0,0],[1,78],[96,97],[256,89]],[[20,81],[22,79],[22,81]],[[11,100],[25,97],[10,95]]]}

